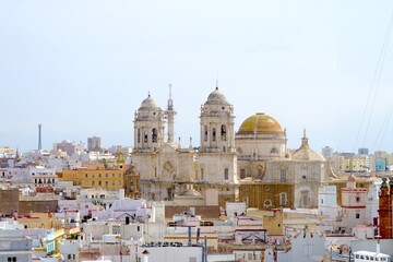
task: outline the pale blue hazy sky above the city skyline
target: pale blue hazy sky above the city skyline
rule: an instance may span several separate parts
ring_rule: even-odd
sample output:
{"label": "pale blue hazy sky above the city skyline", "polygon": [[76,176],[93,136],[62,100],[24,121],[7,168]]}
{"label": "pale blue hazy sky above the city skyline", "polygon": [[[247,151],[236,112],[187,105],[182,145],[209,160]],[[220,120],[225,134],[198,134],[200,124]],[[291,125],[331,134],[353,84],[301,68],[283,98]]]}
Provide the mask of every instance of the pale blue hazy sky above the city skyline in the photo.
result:
{"label": "pale blue hazy sky above the city skyline", "polygon": [[0,146],[36,148],[38,123],[48,150],[133,145],[134,111],[148,92],[166,108],[169,83],[175,136],[196,146],[218,74],[236,130],[265,112],[290,148],[306,128],[318,151],[392,152],[393,39],[378,69],[392,12],[391,0],[0,1]]}

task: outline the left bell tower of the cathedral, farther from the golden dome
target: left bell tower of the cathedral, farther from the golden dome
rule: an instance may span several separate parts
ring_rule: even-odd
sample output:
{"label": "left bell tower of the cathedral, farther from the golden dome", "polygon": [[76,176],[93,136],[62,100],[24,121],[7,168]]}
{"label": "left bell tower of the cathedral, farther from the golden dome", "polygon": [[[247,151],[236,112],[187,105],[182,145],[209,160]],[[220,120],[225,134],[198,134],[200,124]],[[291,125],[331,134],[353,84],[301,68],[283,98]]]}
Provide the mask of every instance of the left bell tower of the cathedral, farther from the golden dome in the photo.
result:
{"label": "left bell tower of the cathedral, farther from the golden dome", "polygon": [[148,94],[134,116],[134,151],[155,152],[164,143],[164,110]]}

